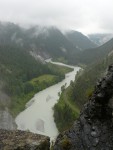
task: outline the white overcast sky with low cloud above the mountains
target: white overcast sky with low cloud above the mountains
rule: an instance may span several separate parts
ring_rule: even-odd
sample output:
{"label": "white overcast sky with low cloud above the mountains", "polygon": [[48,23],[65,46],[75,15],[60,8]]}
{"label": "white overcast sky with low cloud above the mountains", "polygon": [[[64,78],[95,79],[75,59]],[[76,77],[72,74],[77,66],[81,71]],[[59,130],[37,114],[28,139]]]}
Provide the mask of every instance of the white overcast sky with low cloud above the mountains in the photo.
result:
{"label": "white overcast sky with low cloud above the mountains", "polygon": [[113,0],[0,0],[0,20],[113,33]]}

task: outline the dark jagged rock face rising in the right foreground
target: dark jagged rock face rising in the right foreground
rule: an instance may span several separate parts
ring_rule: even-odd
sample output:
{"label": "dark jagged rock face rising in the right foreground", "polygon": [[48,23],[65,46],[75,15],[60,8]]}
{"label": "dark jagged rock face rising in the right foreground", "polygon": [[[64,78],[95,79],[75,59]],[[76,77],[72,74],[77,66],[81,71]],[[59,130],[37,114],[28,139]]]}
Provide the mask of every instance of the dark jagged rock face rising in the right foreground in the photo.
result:
{"label": "dark jagged rock face rising in the right foreground", "polygon": [[59,134],[54,150],[113,150],[113,65],[95,90],[73,127]]}

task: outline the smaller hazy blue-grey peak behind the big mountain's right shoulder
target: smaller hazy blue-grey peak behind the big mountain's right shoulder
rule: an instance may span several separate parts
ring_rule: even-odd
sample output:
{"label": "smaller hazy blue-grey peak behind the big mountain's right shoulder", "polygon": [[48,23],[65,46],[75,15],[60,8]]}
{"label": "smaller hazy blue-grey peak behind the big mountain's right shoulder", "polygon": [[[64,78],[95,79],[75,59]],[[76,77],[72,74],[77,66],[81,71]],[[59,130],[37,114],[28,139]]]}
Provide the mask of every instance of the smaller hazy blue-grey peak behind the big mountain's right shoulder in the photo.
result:
{"label": "smaller hazy blue-grey peak behind the big mountain's right shoulder", "polygon": [[79,48],[81,51],[89,48],[95,48],[97,45],[90,41],[90,39],[78,31],[69,31],[66,33],[66,37],[73,45]]}

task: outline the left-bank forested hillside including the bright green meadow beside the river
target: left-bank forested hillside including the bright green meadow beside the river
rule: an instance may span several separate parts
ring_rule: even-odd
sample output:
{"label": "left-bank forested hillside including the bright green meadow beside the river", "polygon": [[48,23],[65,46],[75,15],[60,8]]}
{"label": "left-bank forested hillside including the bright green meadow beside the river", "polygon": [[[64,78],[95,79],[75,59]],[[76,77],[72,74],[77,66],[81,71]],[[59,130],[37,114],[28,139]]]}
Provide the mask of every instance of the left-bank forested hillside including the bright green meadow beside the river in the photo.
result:
{"label": "left-bank forested hillside including the bright green meadow beside the river", "polygon": [[7,107],[16,115],[24,109],[33,94],[59,82],[69,71],[69,68],[43,64],[14,44],[1,44],[0,106],[3,109],[8,105]]}

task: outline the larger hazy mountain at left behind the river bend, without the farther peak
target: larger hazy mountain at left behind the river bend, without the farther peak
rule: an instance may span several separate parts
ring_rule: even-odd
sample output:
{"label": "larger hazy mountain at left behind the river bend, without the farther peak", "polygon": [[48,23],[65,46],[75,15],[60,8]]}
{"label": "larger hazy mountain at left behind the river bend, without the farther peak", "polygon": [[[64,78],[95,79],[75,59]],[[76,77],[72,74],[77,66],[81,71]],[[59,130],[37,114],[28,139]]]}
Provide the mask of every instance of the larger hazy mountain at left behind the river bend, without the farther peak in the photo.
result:
{"label": "larger hazy mountain at left behind the river bend, without the farther peak", "polygon": [[62,58],[67,62],[74,61],[73,55],[79,52],[79,49],[55,27],[35,26],[24,29],[13,23],[1,23],[0,43],[16,44],[44,59]]}

